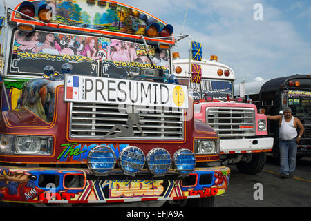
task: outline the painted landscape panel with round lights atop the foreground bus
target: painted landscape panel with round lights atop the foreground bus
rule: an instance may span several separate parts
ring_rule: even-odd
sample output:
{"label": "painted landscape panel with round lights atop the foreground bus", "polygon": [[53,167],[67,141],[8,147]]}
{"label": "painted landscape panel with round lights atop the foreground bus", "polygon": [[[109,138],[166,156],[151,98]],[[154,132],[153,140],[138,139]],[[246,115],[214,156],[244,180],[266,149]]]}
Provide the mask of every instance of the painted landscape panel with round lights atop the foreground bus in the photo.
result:
{"label": "painted landscape panel with round lights atop the foreground bus", "polygon": [[[53,28],[98,32],[120,37],[162,37],[151,39],[175,44],[173,26],[123,3],[111,0],[28,0],[12,10],[10,21]],[[22,13],[22,14],[21,14]],[[93,17],[94,16],[94,17]]]}

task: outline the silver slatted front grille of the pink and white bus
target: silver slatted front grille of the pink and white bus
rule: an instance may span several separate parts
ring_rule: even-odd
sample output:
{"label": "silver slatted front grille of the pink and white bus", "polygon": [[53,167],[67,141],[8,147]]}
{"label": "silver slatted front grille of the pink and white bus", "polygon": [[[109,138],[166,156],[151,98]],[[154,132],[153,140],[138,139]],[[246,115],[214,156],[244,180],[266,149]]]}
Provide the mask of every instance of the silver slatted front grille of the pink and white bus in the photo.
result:
{"label": "silver slatted front grille of the pink and white bus", "polygon": [[254,108],[206,108],[206,122],[218,132],[219,137],[255,135],[255,117]]}

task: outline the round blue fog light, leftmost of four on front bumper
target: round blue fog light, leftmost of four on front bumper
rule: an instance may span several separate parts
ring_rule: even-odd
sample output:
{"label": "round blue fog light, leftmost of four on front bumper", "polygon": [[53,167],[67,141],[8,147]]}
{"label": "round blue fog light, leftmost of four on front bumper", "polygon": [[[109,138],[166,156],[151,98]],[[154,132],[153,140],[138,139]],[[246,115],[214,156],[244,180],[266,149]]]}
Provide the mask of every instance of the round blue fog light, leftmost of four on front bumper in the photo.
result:
{"label": "round blue fog light, leftmost of four on front bumper", "polygon": [[115,167],[115,152],[109,146],[96,146],[88,154],[88,169],[104,175]]}

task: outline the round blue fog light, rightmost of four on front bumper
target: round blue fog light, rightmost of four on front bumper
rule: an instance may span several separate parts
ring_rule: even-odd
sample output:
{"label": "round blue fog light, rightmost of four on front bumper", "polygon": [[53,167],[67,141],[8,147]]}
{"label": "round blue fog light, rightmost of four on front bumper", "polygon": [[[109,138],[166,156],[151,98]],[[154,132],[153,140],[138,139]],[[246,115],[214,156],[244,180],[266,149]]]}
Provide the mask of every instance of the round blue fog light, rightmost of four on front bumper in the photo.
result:
{"label": "round blue fog light, rightmost of four on front bumper", "polygon": [[180,175],[189,175],[196,166],[196,157],[192,151],[180,149],[173,155],[173,161],[176,171]]}

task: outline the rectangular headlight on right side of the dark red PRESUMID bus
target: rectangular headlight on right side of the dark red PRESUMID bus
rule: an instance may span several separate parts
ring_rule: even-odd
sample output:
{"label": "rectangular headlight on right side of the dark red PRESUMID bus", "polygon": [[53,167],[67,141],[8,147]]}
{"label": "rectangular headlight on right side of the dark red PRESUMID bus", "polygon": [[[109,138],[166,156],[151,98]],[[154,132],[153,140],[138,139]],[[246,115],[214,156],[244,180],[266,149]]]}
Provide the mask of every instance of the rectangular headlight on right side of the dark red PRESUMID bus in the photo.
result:
{"label": "rectangular headlight on right side of the dark red PRESUMID bus", "polygon": [[219,140],[195,140],[195,148],[197,154],[218,153],[220,150]]}

